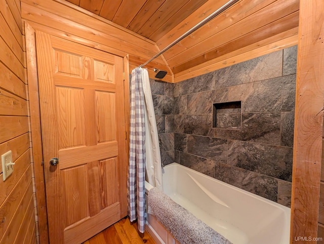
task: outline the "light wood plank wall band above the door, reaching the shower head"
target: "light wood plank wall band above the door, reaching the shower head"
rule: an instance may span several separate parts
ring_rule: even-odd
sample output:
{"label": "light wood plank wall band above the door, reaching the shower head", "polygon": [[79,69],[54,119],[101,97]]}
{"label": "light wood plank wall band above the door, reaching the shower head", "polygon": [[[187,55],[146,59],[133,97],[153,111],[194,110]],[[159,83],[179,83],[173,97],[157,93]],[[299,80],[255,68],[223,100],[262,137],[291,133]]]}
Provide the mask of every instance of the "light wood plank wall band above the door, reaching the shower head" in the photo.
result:
{"label": "light wood plank wall band above the door, reaching the shower head", "polygon": [[[157,45],[126,28],[83,10],[66,1],[22,0],[22,18],[35,29],[69,39],[84,45],[120,56],[129,55],[130,71],[153,57]],[[163,79],[173,82],[169,66],[163,56],[145,66],[149,76],[154,77],[153,68],[168,70]]]}

